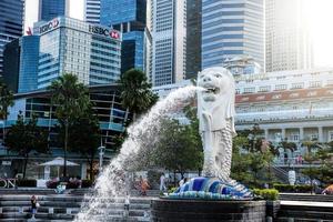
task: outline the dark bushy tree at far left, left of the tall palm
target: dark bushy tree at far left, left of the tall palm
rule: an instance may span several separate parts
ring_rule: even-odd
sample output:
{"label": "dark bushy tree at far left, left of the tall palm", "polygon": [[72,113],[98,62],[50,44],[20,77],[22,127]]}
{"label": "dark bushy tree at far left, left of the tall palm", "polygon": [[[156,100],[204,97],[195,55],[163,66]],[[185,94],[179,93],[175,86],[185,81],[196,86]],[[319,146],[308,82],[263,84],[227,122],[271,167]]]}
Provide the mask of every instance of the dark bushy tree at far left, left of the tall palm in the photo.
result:
{"label": "dark bushy tree at far left, left of the tall palm", "polygon": [[37,118],[24,121],[23,115],[18,115],[18,121],[13,124],[6,137],[6,145],[10,151],[17,152],[24,158],[23,178],[29,160],[29,153],[36,150],[41,153],[48,152],[48,132],[37,125]]}

